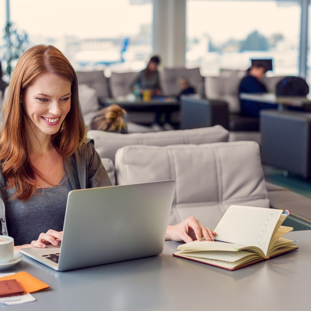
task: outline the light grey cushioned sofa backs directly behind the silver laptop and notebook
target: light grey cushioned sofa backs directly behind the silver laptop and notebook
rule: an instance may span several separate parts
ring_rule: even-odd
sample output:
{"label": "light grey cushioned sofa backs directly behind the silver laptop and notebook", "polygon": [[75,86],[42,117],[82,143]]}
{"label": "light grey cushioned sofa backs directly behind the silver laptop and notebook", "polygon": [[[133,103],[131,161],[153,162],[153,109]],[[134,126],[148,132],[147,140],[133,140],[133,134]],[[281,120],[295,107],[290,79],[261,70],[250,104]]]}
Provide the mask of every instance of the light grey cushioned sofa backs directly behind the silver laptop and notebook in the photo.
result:
{"label": "light grey cushioned sofa backs directly behind the silver laptop and notebook", "polygon": [[194,216],[213,227],[230,204],[269,208],[258,144],[229,143],[228,131],[219,125],[146,134],[98,132],[88,137],[106,158],[102,162],[113,185],[176,180],[170,224]]}

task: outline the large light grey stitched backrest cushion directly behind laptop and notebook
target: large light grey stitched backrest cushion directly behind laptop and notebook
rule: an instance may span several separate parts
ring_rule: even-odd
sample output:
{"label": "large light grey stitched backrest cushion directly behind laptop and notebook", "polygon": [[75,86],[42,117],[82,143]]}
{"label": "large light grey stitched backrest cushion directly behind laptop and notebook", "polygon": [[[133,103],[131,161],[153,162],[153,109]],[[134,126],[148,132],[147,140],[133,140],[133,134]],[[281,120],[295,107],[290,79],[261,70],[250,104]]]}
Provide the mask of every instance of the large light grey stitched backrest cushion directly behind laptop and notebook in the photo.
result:
{"label": "large light grey stitched backrest cushion directly behind laptop and notebook", "polygon": [[126,146],[115,167],[118,185],[176,180],[170,224],[194,216],[214,227],[231,204],[269,208],[255,142]]}

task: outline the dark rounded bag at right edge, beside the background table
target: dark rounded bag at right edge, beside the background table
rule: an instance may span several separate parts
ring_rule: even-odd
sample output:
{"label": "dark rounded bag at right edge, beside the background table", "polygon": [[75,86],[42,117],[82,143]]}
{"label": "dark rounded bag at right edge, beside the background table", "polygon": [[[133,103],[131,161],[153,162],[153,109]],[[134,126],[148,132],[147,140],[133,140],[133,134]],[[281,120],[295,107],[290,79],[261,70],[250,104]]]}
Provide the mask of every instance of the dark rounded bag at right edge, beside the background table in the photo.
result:
{"label": "dark rounded bag at right edge, beside the background table", "polygon": [[287,76],[276,85],[275,93],[278,96],[305,96],[309,86],[299,76]]}

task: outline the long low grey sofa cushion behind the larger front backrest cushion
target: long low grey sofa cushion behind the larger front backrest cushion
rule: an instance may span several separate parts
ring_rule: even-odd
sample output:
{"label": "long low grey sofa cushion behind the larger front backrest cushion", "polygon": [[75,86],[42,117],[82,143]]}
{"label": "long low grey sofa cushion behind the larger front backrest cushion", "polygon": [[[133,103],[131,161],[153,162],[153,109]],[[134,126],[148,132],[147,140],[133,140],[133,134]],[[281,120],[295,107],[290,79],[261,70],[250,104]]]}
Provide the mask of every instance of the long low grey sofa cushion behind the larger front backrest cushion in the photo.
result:
{"label": "long low grey sofa cushion behind the larger front backrest cushion", "polygon": [[158,133],[118,134],[89,131],[87,137],[94,139],[100,158],[114,161],[116,151],[129,145],[167,146],[177,144],[204,144],[227,141],[229,132],[220,125]]}

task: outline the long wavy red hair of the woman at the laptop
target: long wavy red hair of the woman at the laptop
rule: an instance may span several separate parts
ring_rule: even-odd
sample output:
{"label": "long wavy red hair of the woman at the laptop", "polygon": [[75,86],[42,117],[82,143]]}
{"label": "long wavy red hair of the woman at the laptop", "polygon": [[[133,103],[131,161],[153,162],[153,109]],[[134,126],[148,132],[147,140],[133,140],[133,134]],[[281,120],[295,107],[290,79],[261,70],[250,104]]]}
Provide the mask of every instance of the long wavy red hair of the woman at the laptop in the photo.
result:
{"label": "long wavy red hair of the woman at the laptop", "polygon": [[[3,108],[0,129],[1,171],[8,188],[15,187],[19,200],[31,198],[39,186],[36,176],[49,183],[30,162],[31,145],[25,131],[22,98],[36,76],[51,72],[70,81],[71,106],[58,133],[51,141],[63,161],[79,147],[85,136],[85,125],[79,103],[77,78],[74,69],[59,49],[51,45],[35,45],[23,53],[17,62]],[[49,183],[50,184],[50,183]]]}

